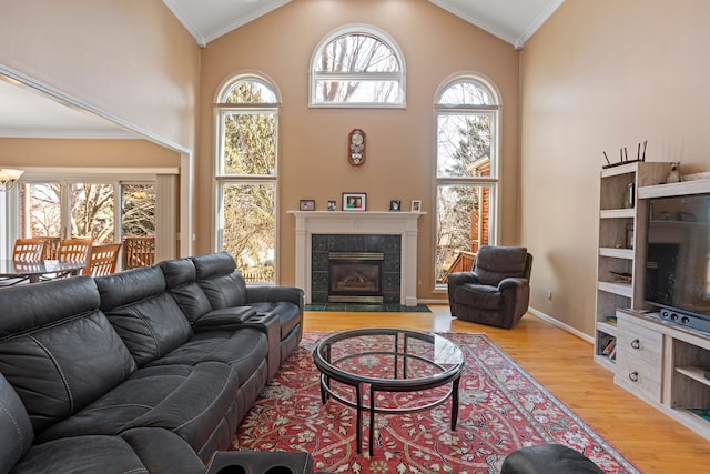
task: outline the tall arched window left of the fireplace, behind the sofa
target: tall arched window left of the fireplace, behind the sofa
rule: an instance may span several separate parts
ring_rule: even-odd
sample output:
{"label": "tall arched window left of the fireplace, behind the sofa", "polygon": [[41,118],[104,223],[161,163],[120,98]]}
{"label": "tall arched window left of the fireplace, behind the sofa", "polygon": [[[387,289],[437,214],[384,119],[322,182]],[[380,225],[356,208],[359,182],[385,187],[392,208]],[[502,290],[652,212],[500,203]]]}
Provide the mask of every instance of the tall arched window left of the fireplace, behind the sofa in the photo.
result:
{"label": "tall arched window left of the fireplace, behind the sofa", "polygon": [[240,77],[220,93],[216,246],[250,282],[275,282],[278,101],[263,78]]}

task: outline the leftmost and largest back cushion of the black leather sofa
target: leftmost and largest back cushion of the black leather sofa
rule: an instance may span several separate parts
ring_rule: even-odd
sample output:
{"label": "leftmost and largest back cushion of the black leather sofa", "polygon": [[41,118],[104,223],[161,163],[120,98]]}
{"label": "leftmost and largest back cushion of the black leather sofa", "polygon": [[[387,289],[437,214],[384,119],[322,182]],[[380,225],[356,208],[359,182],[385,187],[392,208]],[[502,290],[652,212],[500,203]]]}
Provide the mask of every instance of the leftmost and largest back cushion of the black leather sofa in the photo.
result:
{"label": "leftmost and largest back cushion of the black leather sofa", "polygon": [[123,382],[135,362],[95,307],[91,278],[0,290],[0,372],[36,435]]}

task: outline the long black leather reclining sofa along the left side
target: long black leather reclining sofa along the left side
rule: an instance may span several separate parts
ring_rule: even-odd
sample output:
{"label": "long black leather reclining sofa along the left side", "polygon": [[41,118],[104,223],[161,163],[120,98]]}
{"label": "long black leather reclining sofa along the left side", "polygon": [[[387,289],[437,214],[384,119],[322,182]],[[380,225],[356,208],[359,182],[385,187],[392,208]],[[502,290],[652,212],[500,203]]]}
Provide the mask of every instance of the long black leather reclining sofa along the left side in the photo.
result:
{"label": "long black leather reclining sofa along the left side", "polygon": [[226,252],[0,289],[0,473],[202,473],[298,345],[303,296]]}

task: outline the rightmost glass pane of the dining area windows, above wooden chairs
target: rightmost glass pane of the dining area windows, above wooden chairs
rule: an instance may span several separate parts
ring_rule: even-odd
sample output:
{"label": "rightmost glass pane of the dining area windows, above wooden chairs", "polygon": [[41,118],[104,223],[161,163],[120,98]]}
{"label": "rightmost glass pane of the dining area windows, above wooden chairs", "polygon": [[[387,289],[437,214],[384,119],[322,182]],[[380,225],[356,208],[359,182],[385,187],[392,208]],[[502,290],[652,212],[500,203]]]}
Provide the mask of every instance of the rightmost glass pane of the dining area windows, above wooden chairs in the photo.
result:
{"label": "rightmost glass pane of the dining area windows, above wooden chairs", "polygon": [[123,236],[155,235],[155,184],[121,186],[121,233]]}

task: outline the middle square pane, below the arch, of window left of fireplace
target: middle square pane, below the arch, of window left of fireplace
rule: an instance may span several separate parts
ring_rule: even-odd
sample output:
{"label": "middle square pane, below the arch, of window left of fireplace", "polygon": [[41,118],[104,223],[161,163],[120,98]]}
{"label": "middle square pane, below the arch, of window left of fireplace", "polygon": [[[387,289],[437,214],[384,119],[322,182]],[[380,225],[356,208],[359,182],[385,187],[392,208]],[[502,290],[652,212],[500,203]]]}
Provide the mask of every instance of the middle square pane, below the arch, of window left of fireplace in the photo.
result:
{"label": "middle square pane, below the arch, of window left of fireplace", "polygon": [[223,175],[276,173],[276,115],[263,112],[222,112]]}

